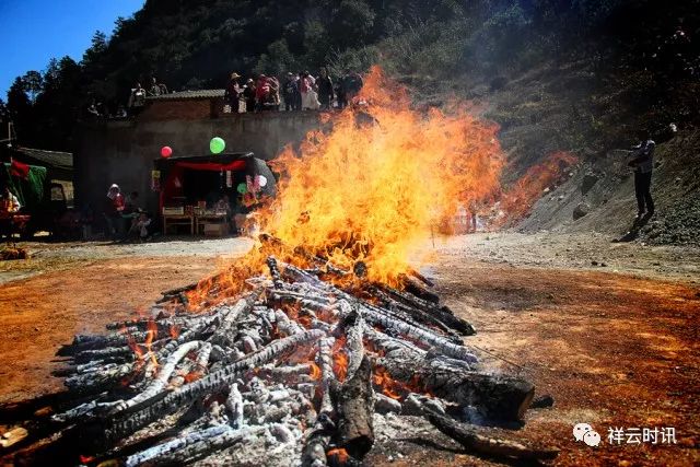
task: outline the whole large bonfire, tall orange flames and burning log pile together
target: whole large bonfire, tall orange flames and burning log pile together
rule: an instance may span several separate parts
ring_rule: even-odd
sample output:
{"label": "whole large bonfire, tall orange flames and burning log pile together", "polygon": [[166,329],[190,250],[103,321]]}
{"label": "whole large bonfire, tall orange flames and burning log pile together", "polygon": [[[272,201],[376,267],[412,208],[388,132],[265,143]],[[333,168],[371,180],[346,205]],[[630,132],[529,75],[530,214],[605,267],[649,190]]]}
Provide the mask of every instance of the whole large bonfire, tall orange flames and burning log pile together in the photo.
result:
{"label": "whole large bonfire, tall orange flames and burning log pile together", "polygon": [[61,350],[74,399],[51,423],[81,462],[352,464],[390,417],[489,455],[553,455],[464,424],[522,419],[534,387],[488,372],[409,265],[497,190],[497,128],[465,106],[413,110],[376,68],[357,101],[276,161],[248,255]]}

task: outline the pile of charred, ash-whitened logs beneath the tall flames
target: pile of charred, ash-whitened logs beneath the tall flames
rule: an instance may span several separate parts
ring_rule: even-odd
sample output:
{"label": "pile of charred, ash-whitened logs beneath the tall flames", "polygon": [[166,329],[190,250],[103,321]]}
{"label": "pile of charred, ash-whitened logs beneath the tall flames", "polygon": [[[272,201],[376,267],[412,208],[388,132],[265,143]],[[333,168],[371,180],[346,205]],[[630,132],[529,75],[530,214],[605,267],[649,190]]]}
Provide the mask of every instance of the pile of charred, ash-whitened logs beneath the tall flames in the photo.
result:
{"label": "pile of charred, ash-whitened logs beneath the tall flames", "polygon": [[[464,423],[467,413],[521,420],[534,386],[481,367],[463,343],[474,328],[419,273],[399,290],[328,280],[362,276],[362,265],[301,268],[270,256],[267,267],[199,313],[188,311],[194,285],[170,291],[152,318],[59,351],[75,404],[51,423],[79,440],[83,464],[352,465],[387,412],[423,416],[472,452],[556,455]],[[215,279],[210,288],[215,295]]]}

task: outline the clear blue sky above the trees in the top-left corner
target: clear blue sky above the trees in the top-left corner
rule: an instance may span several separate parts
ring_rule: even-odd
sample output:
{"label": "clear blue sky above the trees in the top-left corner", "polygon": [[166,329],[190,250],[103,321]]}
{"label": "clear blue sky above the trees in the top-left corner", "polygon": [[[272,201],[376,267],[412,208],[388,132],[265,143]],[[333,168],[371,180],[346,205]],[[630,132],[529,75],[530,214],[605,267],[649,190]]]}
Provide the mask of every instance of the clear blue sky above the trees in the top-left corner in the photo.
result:
{"label": "clear blue sky above the trees in the top-left corner", "polygon": [[14,79],[43,71],[52,57],[79,61],[95,31],[108,36],[118,16],[144,0],[0,0],[0,98]]}

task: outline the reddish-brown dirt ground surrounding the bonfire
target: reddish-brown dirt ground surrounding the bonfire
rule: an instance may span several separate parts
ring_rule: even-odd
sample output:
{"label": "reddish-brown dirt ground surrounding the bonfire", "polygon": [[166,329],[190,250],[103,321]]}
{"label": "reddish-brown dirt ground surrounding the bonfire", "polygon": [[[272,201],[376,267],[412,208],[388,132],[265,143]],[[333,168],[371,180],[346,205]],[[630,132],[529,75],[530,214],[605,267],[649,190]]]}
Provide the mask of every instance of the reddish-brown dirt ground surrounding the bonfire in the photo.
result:
{"label": "reddish-brown dirt ground surrounding the bonfire", "polygon": [[[201,279],[218,257],[231,260],[249,242],[26,246],[33,259],[0,265],[2,402],[59,390],[54,354],[73,334],[139,313],[161,291]],[[552,408],[530,410],[520,430],[495,433],[559,447],[557,465],[700,463],[698,252],[513,233],[454,237],[428,249],[431,265],[422,271],[477,327],[466,343],[494,371],[532,378],[537,394],[555,399]],[[579,422],[593,425],[603,444],[576,443]],[[610,445],[614,427],[673,427],[676,444]],[[499,465],[440,436],[398,436],[368,458],[387,463]]]}

